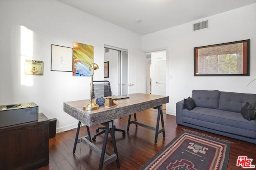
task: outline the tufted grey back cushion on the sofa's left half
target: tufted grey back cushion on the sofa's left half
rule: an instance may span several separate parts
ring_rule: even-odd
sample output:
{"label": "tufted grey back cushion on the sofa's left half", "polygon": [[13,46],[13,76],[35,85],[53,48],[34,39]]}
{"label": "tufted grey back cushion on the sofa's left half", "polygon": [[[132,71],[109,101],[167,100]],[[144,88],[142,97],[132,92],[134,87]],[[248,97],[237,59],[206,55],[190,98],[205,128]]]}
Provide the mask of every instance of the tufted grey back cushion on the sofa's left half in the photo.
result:
{"label": "tufted grey back cushion on the sofa's left half", "polygon": [[220,91],[218,90],[193,90],[192,99],[197,107],[218,109]]}

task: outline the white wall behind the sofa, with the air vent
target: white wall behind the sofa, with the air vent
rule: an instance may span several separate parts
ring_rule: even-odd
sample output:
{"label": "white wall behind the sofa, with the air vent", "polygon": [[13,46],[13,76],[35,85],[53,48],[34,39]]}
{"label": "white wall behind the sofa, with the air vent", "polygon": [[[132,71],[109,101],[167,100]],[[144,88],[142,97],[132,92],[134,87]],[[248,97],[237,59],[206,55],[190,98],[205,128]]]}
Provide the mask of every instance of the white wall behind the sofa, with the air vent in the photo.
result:
{"label": "white wall behind the sofa, with the air vent", "polygon": [[[192,31],[193,23],[209,19],[209,28]],[[256,4],[142,36],[142,50],[168,47],[167,113],[192,90],[256,93]],[[194,76],[194,47],[250,39],[250,76]]]}

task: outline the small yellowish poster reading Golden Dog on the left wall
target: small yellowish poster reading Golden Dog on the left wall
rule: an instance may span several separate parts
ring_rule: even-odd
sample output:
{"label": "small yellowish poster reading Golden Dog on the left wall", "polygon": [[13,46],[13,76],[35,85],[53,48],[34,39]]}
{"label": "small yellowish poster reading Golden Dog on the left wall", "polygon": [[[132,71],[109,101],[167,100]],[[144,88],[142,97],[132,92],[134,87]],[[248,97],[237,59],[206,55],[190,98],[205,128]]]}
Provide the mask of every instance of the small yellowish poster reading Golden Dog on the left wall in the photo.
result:
{"label": "small yellowish poster reading Golden Dog on the left wall", "polygon": [[25,61],[25,74],[42,75],[43,74],[43,61],[26,60]]}

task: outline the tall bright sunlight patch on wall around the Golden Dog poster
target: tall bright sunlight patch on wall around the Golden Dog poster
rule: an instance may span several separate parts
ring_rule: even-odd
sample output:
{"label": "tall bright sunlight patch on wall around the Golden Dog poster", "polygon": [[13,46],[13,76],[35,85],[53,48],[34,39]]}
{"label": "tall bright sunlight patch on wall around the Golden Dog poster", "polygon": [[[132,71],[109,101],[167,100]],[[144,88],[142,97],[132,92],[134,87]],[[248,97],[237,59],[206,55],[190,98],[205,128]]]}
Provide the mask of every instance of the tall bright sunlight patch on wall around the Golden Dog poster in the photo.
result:
{"label": "tall bright sunlight patch on wall around the Golden Dog poster", "polygon": [[33,86],[33,76],[25,75],[25,61],[33,56],[33,31],[20,26],[20,83],[25,86]]}

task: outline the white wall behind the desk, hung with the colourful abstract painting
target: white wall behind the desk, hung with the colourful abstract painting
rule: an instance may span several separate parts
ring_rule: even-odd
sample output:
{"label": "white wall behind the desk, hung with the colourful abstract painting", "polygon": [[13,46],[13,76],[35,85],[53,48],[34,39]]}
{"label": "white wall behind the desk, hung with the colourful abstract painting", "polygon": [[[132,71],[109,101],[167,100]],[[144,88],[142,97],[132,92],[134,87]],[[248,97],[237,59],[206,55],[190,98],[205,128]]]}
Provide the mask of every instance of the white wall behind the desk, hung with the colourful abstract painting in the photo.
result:
{"label": "white wall behind the desk, hung with the colourful abstract painting", "polygon": [[[32,86],[21,85],[21,35],[32,31],[29,50],[44,61],[44,74],[26,75]],[[125,41],[124,41],[125,40]],[[77,127],[78,121],[63,111],[63,102],[88,99],[90,77],[50,71],[51,44],[72,47],[73,41],[94,46],[94,79],[103,80],[104,44],[141,50],[141,36],[95,18],[56,0],[0,1],[0,105],[34,102],[49,119],[57,118],[57,131]]]}

